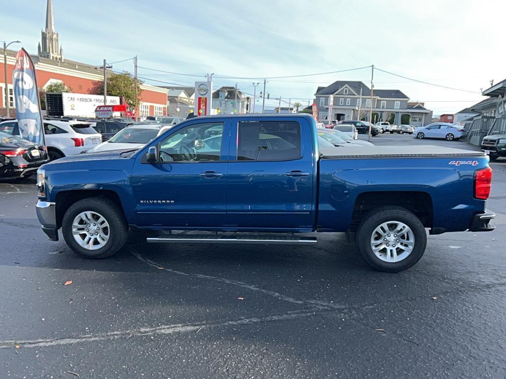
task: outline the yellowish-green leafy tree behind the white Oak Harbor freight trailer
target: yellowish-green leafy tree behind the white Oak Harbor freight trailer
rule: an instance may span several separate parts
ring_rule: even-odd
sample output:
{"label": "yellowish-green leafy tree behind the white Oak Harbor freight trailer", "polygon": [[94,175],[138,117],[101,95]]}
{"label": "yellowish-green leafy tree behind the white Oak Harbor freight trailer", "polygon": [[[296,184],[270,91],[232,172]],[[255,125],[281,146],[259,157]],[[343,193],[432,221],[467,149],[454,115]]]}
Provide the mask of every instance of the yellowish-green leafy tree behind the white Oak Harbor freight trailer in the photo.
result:
{"label": "yellowish-green leafy tree behind the white Oak Harbor freight trailer", "polygon": [[[142,84],[141,80],[137,80],[138,84]],[[99,80],[93,82],[90,89],[91,94],[104,94],[104,82]],[[107,94],[110,96],[124,96],[126,103],[134,107],[139,102],[142,89],[137,86],[137,94],[135,93],[135,78],[130,72],[122,72],[120,74],[109,73],[107,76]]]}

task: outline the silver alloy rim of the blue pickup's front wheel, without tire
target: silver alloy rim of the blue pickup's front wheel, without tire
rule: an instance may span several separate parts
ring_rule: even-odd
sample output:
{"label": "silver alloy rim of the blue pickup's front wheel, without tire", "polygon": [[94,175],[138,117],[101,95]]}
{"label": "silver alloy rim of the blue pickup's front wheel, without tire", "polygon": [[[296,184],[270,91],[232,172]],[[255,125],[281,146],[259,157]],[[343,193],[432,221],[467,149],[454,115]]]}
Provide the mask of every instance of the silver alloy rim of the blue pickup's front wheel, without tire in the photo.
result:
{"label": "silver alloy rim of the blue pickup's front wheel, without tire", "polygon": [[97,212],[81,212],[72,222],[72,235],[81,247],[87,250],[98,250],[109,241],[109,223]]}

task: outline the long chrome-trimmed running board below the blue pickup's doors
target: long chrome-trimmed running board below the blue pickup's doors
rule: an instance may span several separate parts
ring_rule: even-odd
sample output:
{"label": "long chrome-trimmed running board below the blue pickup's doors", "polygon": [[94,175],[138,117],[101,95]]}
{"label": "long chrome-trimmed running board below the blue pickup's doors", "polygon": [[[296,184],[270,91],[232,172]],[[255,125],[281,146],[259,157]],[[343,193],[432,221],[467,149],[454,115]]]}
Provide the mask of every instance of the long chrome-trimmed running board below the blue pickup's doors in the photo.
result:
{"label": "long chrome-trimmed running board below the blue pickup's doors", "polygon": [[297,236],[291,234],[165,234],[149,237],[147,242],[152,244],[182,243],[182,244],[263,244],[263,245],[315,245],[316,237]]}

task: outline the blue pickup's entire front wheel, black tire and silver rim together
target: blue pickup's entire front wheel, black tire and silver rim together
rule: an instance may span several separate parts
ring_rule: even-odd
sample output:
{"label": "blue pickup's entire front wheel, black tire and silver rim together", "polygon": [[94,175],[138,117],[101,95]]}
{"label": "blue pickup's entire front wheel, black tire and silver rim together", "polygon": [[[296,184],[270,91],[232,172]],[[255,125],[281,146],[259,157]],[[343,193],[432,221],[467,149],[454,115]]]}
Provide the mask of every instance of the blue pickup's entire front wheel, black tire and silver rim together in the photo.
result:
{"label": "blue pickup's entire front wheel, black tire and silver rim together", "polygon": [[117,204],[104,198],[87,198],[65,212],[62,233],[67,245],[81,257],[103,259],[123,247],[128,224]]}

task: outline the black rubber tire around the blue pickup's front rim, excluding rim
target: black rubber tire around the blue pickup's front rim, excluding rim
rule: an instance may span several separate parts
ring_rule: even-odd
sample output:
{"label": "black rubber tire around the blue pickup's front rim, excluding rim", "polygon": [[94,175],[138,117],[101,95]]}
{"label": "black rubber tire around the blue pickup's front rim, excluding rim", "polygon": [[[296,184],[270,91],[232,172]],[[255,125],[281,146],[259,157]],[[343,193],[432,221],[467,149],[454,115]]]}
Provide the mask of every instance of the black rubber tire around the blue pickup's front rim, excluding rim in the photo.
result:
{"label": "black rubber tire around the blue pickup's front rim, excluding rim", "polygon": [[[109,224],[109,240],[97,250],[88,250],[80,246],[72,234],[74,218],[81,212],[96,212],[102,215]],[[67,245],[78,255],[88,259],[104,259],[116,254],[125,244],[128,237],[128,223],[121,208],[108,199],[101,197],[87,198],[72,204],[62,221],[63,238]]]}

